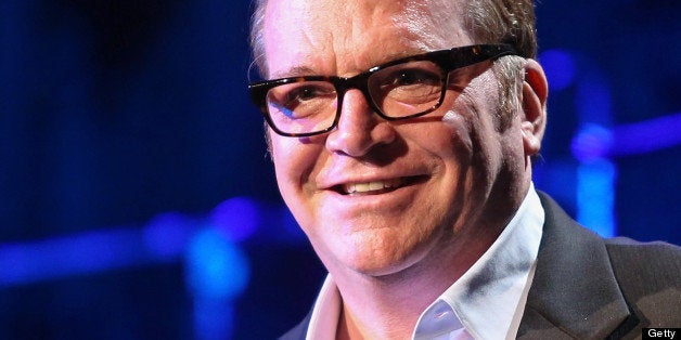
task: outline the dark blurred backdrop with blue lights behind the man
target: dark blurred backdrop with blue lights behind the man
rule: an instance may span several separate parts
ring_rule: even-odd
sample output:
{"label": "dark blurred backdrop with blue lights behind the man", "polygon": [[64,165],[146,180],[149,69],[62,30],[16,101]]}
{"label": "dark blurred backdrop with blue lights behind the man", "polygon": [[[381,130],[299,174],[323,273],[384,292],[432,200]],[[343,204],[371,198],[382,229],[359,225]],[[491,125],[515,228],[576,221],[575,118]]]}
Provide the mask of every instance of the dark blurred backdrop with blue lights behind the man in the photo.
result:
{"label": "dark blurred backdrop with blue lights behind the man", "polygon": [[[0,2],[0,339],[272,339],[324,272],[250,106],[249,1]],[[542,1],[536,185],[681,244],[681,6]]]}

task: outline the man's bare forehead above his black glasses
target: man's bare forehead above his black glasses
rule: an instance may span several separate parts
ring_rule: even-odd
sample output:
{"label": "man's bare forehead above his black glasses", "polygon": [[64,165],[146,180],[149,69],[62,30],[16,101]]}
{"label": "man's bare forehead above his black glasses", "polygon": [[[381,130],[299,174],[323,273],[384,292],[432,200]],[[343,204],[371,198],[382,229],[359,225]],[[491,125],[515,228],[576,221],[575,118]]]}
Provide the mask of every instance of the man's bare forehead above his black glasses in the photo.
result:
{"label": "man's bare forehead above his black glasses", "polygon": [[[270,0],[265,27],[269,77],[332,75],[344,69],[352,74],[463,44],[454,42],[461,40],[461,25],[453,9],[437,2]],[[335,58],[334,65],[329,65],[330,58]],[[320,69],[324,63],[327,69]]]}

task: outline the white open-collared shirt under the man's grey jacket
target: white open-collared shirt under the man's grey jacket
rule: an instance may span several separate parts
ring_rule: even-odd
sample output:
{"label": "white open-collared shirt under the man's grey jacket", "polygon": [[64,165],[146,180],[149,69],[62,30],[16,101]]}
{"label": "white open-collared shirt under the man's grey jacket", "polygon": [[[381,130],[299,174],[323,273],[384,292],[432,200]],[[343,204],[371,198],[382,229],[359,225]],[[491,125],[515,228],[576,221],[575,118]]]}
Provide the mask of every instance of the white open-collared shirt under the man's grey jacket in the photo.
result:
{"label": "white open-collared shirt under the man's grey jacket", "polygon": [[[544,211],[534,185],[497,240],[422,314],[412,339],[513,339],[531,285]],[[331,274],[306,339],[334,339],[340,293]]]}

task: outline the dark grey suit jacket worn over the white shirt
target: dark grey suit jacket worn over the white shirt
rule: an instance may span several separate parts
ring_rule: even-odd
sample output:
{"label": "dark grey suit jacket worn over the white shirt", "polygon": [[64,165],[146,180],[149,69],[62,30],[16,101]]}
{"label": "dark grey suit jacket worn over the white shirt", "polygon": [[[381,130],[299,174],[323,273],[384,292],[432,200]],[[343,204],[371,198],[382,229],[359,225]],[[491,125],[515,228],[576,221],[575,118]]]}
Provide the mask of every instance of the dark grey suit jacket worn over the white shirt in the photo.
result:
{"label": "dark grey suit jacket worn over the white shirt", "polygon": [[[518,338],[634,339],[681,327],[681,248],[602,239],[539,196],[544,230]],[[310,316],[281,339],[305,339]]]}

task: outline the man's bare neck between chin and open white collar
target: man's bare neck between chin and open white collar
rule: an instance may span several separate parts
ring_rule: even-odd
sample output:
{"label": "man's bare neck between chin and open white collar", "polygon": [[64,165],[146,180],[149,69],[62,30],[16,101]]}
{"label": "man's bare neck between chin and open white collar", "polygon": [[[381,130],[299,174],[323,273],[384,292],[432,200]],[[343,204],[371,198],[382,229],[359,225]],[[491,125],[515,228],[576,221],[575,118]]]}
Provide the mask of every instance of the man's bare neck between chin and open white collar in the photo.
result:
{"label": "man's bare neck between chin and open white collar", "polygon": [[452,237],[447,245],[434,247],[439,249],[437,253],[391,275],[336,271],[334,279],[343,300],[337,339],[409,339],[422,311],[459,279],[500,233],[480,232],[475,240]]}

